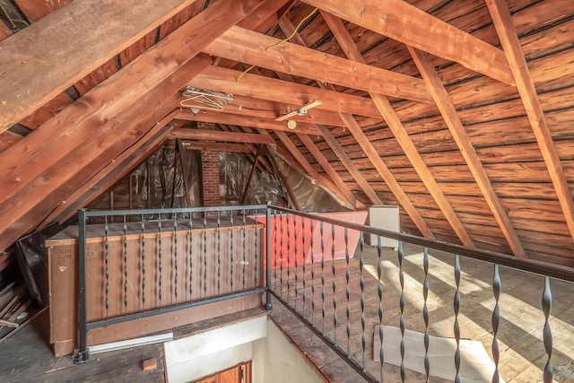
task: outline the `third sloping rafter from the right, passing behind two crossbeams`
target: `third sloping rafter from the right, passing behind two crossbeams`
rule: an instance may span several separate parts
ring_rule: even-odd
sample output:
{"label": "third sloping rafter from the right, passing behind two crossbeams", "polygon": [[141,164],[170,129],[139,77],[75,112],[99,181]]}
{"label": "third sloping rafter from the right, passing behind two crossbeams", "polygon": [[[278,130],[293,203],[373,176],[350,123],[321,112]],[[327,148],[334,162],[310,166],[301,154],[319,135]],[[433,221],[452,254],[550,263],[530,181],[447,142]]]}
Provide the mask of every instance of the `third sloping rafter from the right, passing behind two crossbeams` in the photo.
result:
{"label": "third sloping rafter from the right, passing behind two crossbeams", "polygon": [[[353,42],[349,31],[346,30],[341,19],[323,11],[321,11],[321,14],[345,55],[353,61],[366,64],[365,59],[361,56],[361,52]],[[403,149],[404,154],[406,154],[406,157],[411,161],[422,183],[424,183],[424,186],[427,187],[429,193],[431,193],[431,196],[434,198],[453,231],[457,233],[458,239],[460,239],[465,246],[474,248],[473,239],[471,239],[466,231],[465,225],[460,221],[457,212],[455,212],[455,209],[450,205],[450,202],[448,202],[447,196],[445,196],[440,189],[439,184],[431,174],[431,170],[429,170],[426,163],[422,160],[421,154],[406,132],[406,129],[404,129],[403,123],[398,116],[396,116],[395,109],[393,109],[388,102],[387,97],[374,92],[370,92],[369,94],[370,98],[375,102],[381,116],[387,121],[387,126],[393,135],[395,135],[396,141]]]}

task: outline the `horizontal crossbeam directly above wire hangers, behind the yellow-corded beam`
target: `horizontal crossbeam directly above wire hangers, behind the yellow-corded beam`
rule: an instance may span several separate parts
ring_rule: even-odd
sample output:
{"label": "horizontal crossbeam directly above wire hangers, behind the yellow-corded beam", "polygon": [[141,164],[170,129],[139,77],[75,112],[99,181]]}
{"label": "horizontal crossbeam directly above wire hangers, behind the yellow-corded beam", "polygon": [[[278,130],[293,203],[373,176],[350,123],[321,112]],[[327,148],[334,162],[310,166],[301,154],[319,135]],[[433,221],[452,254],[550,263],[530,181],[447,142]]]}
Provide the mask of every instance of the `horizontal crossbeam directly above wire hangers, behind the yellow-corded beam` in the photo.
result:
{"label": "horizontal crossbeam directly above wire hangers, behind the yellow-corded beam", "polygon": [[[282,19],[283,20],[283,19]],[[312,100],[321,100],[317,109],[343,111],[353,115],[379,118],[372,100],[338,91],[327,91],[300,83],[291,83],[262,75],[247,73],[237,80],[241,72],[232,69],[210,66],[190,83],[197,88],[212,91],[230,92],[236,95],[261,100],[303,105]]]}

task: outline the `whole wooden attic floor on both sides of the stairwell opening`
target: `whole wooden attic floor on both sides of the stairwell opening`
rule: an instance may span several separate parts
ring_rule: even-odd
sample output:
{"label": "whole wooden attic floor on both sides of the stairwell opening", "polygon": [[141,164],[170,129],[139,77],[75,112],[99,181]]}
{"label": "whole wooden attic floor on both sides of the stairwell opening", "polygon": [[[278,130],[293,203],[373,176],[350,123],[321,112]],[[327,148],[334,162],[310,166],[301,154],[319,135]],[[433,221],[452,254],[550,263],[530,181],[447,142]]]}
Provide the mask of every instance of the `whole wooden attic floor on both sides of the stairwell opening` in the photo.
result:
{"label": "whole wooden attic floor on both sides of the stairwell opening", "polygon": [[[404,320],[406,328],[422,332],[422,272],[421,248],[405,246],[404,248]],[[398,326],[400,311],[398,300],[400,284],[398,282],[398,261],[396,252],[384,249],[382,254],[385,274],[383,276],[383,294],[385,304],[384,324]],[[366,247],[364,251],[365,269],[363,278],[365,291],[376,291],[378,254],[375,248]],[[344,270],[344,261],[336,261],[337,270]],[[453,296],[456,286],[453,282],[453,257],[431,250],[430,259],[430,293],[427,301],[430,311],[429,330],[431,335],[453,336]],[[352,285],[352,313],[361,313],[358,279],[359,257],[355,255],[350,260],[350,275]],[[491,280],[492,266],[473,259],[461,259],[462,275],[460,293],[462,304],[458,320],[462,338],[480,341],[485,351],[491,354],[492,330],[491,313],[494,307]],[[294,270],[291,269],[291,289],[294,286]],[[326,267],[326,333],[333,335],[332,317],[332,278],[328,276],[330,265]],[[316,270],[317,272],[317,270]],[[286,270],[283,270],[286,273]],[[302,271],[298,270],[299,283]],[[306,318],[311,313],[310,300],[310,269],[306,269]],[[541,342],[544,315],[540,311],[542,300],[543,278],[500,267],[502,289],[500,293],[500,328],[498,341],[500,345],[499,369],[502,378],[508,381],[539,381],[546,362],[544,344]],[[286,283],[286,274],[283,274]],[[317,283],[317,274],[316,274]],[[336,277],[339,288],[345,288],[344,273]],[[300,285],[301,286],[301,285]],[[320,287],[317,287],[315,320],[321,319]],[[328,287],[328,288],[327,288]],[[300,294],[302,292],[300,291]],[[374,296],[371,296],[374,295]],[[365,317],[365,363],[372,375],[378,377],[378,363],[373,361],[373,324],[378,323],[378,296],[371,294],[366,297]],[[293,295],[290,295],[291,302]],[[550,325],[553,336],[552,364],[556,381],[574,381],[574,283],[563,283],[552,280],[552,315]],[[338,298],[337,314],[339,318],[338,344],[345,349],[344,294]],[[299,306],[299,311],[302,309]],[[341,310],[341,311],[339,311]],[[226,322],[238,320],[239,317],[262,315],[261,309],[247,310],[235,314],[232,318],[213,318],[209,323],[199,323],[174,329],[174,337],[181,337],[205,328],[205,326],[222,326]],[[271,314],[274,321],[283,328],[291,342],[300,348],[316,369],[329,381],[335,383],[360,382],[363,379],[346,366],[334,352],[313,335],[309,328],[298,318],[295,318],[279,302],[274,302]],[[316,322],[320,323],[320,322]],[[359,333],[357,333],[359,331]],[[355,358],[361,361],[361,325],[359,321],[352,324],[351,349]],[[74,365],[69,356],[55,357],[48,344],[49,318],[48,312],[41,314],[0,345],[0,381],[164,381],[163,347],[152,344],[126,351],[101,353],[92,355],[91,361],[83,365]],[[143,360],[156,358],[156,370],[144,372],[140,368]],[[385,381],[400,381],[399,369],[396,366],[384,364]],[[424,379],[417,372],[406,372],[407,381]],[[431,379],[443,381],[443,379]]]}

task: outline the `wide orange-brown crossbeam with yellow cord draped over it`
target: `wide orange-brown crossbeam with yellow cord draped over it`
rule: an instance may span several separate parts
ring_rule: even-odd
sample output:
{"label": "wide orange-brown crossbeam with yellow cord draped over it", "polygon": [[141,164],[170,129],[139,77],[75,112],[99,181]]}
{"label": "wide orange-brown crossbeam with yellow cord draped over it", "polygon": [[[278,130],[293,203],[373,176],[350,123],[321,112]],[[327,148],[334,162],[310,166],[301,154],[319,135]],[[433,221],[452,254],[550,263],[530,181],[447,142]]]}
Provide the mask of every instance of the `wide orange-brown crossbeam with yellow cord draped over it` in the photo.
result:
{"label": "wide orange-brown crossbeam with yellow cord draped over it", "polygon": [[376,91],[401,99],[431,102],[431,95],[421,79],[353,63],[290,42],[269,48],[279,41],[252,30],[233,27],[204,48],[204,52],[322,82]]}

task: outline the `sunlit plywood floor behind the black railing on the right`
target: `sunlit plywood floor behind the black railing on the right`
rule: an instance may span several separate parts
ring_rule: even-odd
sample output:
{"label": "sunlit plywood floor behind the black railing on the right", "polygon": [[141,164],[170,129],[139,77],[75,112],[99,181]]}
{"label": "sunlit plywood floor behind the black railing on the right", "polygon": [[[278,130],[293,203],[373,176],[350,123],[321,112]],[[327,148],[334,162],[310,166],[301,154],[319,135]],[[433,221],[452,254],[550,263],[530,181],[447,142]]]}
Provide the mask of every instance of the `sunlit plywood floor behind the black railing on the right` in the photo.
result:
{"label": "sunlit plywood floor behind the black railing on the right", "polygon": [[[349,261],[349,282],[347,283],[347,266],[344,260],[335,263],[326,261],[323,274],[325,283],[321,283],[321,265],[316,263],[299,265],[295,269],[273,270],[273,284],[277,291],[283,291],[283,300],[289,300],[295,305],[295,290],[297,290],[297,311],[309,321],[314,321],[317,328],[323,330],[330,339],[344,351],[350,350],[353,358],[362,363],[370,373],[379,377],[380,364],[373,361],[373,329],[379,323],[378,309],[378,252],[376,248],[367,246],[363,251],[364,281],[361,294],[361,269],[359,252]],[[401,310],[399,300],[401,295],[399,264],[396,251],[383,249],[382,265],[382,323],[388,326],[399,326]],[[430,335],[454,337],[455,315],[453,300],[456,292],[454,279],[454,257],[446,253],[431,250],[430,272],[428,282],[430,292],[427,299],[429,309]],[[335,266],[335,277],[333,276]],[[491,356],[492,309],[495,299],[492,293],[493,266],[481,261],[461,257],[461,282],[459,292],[461,306],[458,322],[463,339],[474,339],[483,344]],[[425,329],[422,316],[424,299],[422,283],[424,272],[422,265],[422,248],[406,245],[404,247],[404,310],[402,318],[407,329],[423,332]],[[314,278],[311,277],[314,273]],[[297,279],[295,278],[297,274]],[[303,286],[303,275],[305,286]],[[530,382],[542,379],[542,370],[547,356],[542,343],[544,314],[541,310],[544,278],[535,274],[526,274],[500,267],[500,326],[498,343],[500,347],[499,370],[506,381]],[[314,281],[314,282],[313,282]],[[334,282],[335,281],[335,285]],[[289,284],[289,286],[288,286]],[[312,288],[315,292],[312,292]],[[324,287],[323,287],[324,286]],[[334,287],[335,286],[335,287]],[[574,284],[557,280],[551,281],[552,311],[550,325],[553,336],[552,365],[556,381],[574,381]],[[289,292],[287,293],[289,287]],[[347,303],[346,289],[349,287]],[[334,309],[334,290],[336,292],[336,311]],[[305,304],[303,305],[303,292]],[[322,293],[325,299],[321,298]],[[361,309],[361,295],[364,299],[364,309]],[[312,301],[315,300],[315,309]],[[323,303],[324,302],[324,303]],[[349,319],[347,319],[347,307]],[[322,314],[325,309],[325,315]],[[336,312],[337,326],[335,329],[334,313]],[[361,328],[361,314],[365,320],[364,331]],[[300,349],[307,353],[317,368],[334,382],[361,381],[352,372],[341,372],[344,361],[334,358],[331,352],[317,337],[312,335],[307,326],[297,318],[282,309],[281,304],[275,304],[274,320],[282,326]],[[350,324],[351,335],[346,335],[347,323]],[[364,336],[364,352],[361,339]],[[349,339],[349,342],[348,342]],[[423,347],[423,345],[421,345]],[[378,352],[378,350],[377,350]],[[454,361],[453,361],[454,364]],[[329,372],[332,371],[332,372]],[[384,363],[385,381],[400,381],[399,368]],[[406,371],[407,381],[424,380],[424,376]],[[359,380],[357,380],[359,379]],[[444,379],[431,379],[444,381]],[[490,380],[490,379],[489,379]]]}

